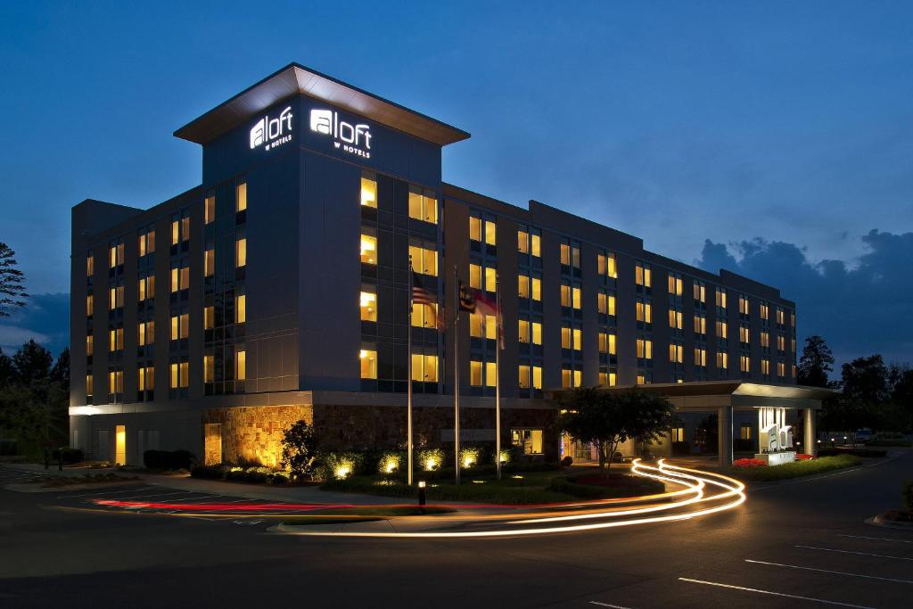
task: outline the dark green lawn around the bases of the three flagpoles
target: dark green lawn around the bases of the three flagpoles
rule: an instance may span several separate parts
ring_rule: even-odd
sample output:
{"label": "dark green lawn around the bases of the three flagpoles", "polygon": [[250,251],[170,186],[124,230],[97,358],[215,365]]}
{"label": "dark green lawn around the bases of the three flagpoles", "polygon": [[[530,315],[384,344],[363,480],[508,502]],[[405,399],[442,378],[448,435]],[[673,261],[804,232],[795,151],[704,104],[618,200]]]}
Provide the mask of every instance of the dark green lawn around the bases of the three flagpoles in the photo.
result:
{"label": "dark green lawn around the bases of the three flagpoles", "polygon": [[[467,501],[471,503],[497,503],[504,505],[562,503],[579,499],[632,497],[662,492],[661,483],[644,478],[625,478],[626,484],[590,486],[575,484],[573,479],[557,475],[554,471],[528,472],[505,475],[498,480],[492,476],[464,474],[456,486],[442,480],[429,481],[425,497],[429,501]],[[341,492],[365,493],[385,497],[415,499],[417,489],[398,480],[385,480],[375,476],[356,476],[345,480],[331,480],[320,488]]]}

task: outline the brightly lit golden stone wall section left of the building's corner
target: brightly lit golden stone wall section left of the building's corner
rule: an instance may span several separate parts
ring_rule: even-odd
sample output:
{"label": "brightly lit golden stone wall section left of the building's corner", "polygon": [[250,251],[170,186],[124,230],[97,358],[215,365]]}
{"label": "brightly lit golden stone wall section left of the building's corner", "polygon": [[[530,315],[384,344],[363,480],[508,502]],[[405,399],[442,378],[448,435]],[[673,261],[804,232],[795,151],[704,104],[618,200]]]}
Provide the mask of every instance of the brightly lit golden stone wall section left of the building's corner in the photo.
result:
{"label": "brightly lit golden stone wall section left of the building's corner", "polygon": [[313,422],[310,406],[237,406],[211,408],[203,412],[206,424],[222,425],[222,460],[240,459],[276,467],[282,456],[282,433],[304,419]]}

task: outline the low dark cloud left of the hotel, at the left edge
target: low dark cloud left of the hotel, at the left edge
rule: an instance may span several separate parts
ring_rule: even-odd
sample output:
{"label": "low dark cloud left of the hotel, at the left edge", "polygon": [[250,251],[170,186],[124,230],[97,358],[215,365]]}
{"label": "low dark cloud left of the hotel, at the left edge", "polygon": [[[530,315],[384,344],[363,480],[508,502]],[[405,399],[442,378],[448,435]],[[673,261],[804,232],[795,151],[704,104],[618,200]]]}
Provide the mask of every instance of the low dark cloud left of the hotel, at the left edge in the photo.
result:
{"label": "low dark cloud left of the hotel, at the left edge", "polygon": [[24,310],[0,320],[0,347],[16,352],[34,339],[57,355],[69,344],[69,294],[33,294]]}

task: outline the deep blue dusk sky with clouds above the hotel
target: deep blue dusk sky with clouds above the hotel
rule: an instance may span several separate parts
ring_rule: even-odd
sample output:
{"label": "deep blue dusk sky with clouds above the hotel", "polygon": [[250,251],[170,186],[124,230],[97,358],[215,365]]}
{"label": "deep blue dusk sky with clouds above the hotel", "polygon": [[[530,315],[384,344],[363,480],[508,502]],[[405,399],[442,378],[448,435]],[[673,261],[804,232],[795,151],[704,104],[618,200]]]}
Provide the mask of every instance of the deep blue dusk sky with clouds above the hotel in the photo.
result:
{"label": "deep blue dusk sky with clouds above the hotel", "polygon": [[[449,182],[780,286],[842,358],[913,359],[909,3],[4,3],[0,240],[30,291],[68,290],[71,205],[197,184],[172,131],[290,61],[471,132]],[[34,305],[0,345],[65,341],[65,300]]]}

